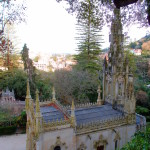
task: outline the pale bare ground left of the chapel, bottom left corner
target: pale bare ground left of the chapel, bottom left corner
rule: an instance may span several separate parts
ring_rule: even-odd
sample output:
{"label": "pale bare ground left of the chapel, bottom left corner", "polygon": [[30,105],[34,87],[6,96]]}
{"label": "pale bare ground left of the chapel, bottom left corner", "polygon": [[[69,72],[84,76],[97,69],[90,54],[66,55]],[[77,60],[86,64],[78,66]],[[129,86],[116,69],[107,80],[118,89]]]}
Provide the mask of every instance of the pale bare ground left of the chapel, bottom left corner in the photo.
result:
{"label": "pale bare ground left of the chapel, bottom left corner", "polygon": [[0,150],[26,150],[26,134],[0,136]]}

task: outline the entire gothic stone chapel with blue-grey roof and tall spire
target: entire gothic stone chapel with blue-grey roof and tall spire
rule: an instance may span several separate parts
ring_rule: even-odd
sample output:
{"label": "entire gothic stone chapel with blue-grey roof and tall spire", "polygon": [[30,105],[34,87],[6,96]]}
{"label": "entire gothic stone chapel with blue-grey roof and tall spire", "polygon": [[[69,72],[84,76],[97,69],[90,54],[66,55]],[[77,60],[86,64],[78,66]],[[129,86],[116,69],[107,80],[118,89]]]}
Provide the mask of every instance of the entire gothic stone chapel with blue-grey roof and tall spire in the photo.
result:
{"label": "entire gothic stone chapel with blue-grey roof and tall spire", "polygon": [[145,118],[135,113],[133,75],[123,53],[119,10],[114,10],[109,59],[104,61],[103,99],[64,107],[55,98],[35,104],[27,83],[27,150],[116,150],[130,141]]}

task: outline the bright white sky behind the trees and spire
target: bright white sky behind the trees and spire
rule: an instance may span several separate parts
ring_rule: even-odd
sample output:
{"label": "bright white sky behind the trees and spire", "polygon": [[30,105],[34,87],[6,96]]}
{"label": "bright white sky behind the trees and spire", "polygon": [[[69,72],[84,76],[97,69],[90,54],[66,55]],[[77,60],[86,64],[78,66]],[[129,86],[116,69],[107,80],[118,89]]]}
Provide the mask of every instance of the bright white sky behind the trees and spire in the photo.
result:
{"label": "bright white sky behind the trees and spire", "polygon": [[[62,4],[56,0],[26,0],[27,20],[17,26],[19,47],[27,44],[30,52],[62,54],[76,53],[76,18],[67,13]],[[150,28],[139,29],[136,25],[129,32],[132,41],[138,40],[150,32]],[[109,28],[102,30],[104,43],[102,48],[109,47]]]}

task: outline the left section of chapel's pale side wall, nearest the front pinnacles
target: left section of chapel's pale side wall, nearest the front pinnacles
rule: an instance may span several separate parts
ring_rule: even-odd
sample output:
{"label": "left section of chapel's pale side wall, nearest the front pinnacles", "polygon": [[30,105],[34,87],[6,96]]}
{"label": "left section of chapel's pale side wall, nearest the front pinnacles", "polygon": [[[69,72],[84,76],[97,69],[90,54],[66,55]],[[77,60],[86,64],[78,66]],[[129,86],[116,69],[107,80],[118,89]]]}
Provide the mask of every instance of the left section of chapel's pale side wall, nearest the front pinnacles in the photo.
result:
{"label": "left section of chapel's pale side wall, nearest the front pinnacles", "polygon": [[37,141],[37,150],[54,150],[55,146],[60,146],[61,150],[76,150],[74,130],[65,128],[41,133]]}

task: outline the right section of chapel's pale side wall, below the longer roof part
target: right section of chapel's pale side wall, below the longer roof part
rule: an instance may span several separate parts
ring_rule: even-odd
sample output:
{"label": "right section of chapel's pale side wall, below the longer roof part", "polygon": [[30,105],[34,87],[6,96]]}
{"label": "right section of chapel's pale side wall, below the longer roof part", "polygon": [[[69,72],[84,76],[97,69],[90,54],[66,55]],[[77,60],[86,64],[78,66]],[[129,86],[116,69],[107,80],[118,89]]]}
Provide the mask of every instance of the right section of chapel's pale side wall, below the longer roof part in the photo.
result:
{"label": "right section of chapel's pale side wall, below the longer roof part", "polygon": [[[131,136],[135,133],[136,125],[116,127],[108,130],[92,132],[77,136],[77,150],[86,146],[86,150],[96,150],[97,146],[104,145],[104,150],[115,150],[115,141],[117,147],[121,148],[130,141]],[[80,147],[80,148],[79,148]]]}

